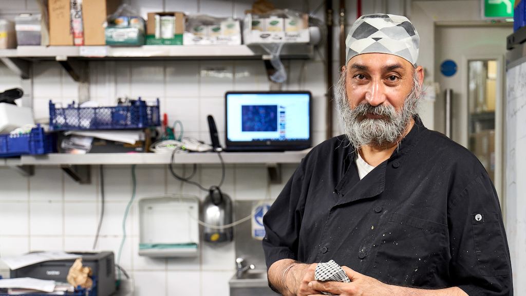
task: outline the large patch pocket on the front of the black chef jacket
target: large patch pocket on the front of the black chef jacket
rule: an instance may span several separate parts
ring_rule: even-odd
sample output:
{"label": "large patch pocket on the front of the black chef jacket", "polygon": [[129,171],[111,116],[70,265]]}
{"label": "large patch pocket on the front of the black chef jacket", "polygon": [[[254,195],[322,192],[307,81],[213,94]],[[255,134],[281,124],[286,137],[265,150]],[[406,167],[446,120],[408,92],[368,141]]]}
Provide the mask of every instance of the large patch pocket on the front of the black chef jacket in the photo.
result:
{"label": "large patch pocket on the front of the black chef jacket", "polygon": [[396,285],[437,287],[450,259],[447,225],[391,214],[380,227],[372,273]]}

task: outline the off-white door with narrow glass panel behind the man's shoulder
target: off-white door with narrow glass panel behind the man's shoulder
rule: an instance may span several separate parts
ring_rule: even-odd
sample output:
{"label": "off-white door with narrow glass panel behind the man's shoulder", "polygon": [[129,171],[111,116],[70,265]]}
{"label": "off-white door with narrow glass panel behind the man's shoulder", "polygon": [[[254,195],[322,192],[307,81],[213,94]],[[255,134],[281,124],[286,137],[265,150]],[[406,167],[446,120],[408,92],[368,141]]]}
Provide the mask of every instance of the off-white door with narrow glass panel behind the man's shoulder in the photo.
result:
{"label": "off-white door with narrow glass panel behind the man's shoulder", "polygon": [[[506,37],[512,31],[511,26],[492,24],[436,25],[434,34],[434,77],[440,85],[434,105],[434,127],[446,132],[444,93],[451,89],[451,139],[478,157],[501,204],[504,55]],[[441,72],[446,60],[457,65],[451,76]]]}

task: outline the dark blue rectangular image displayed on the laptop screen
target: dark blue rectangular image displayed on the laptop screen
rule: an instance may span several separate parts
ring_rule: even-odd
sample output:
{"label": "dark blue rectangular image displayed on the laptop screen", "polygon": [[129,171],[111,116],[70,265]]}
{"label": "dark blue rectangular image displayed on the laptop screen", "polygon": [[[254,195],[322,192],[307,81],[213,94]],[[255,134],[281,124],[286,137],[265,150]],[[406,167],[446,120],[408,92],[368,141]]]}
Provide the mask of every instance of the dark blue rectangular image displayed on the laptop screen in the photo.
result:
{"label": "dark blue rectangular image displayed on the laptop screen", "polygon": [[244,132],[276,132],[278,130],[277,105],[241,106],[241,130]]}

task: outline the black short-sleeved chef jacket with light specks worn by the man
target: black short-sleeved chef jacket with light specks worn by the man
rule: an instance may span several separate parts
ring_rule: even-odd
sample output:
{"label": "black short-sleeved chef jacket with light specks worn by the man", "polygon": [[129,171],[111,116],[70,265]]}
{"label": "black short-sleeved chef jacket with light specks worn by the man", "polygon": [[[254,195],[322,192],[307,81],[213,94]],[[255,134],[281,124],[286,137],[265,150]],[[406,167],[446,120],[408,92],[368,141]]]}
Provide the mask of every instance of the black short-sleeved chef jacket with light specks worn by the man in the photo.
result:
{"label": "black short-sleeved chef jacket with light specks worn by the man", "polygon": [[487,172],[467,149],[415,121],[362,180],[345,136],[313,148],[264,216],[267,268],[286,258],[333,259],[389,284],[512,295]]}

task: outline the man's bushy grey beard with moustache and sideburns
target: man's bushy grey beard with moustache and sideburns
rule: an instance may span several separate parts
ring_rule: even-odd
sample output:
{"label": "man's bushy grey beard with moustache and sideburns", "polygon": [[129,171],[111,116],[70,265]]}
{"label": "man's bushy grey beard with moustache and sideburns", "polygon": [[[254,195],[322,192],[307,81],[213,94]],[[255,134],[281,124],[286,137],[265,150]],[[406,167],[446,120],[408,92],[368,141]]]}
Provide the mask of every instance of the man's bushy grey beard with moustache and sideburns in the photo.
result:
{"label": "man's bushy grey beard with moustache and sideburns", "polygon": [[[417,106],[421,96],[421,86],[418,84],[418,75],[413,75],[413,87],[409,95],[405,98],[400,111],[388,105],[372,106],[368,102],[361,103],[351,109],[345,80],[347,73],[340,75],[336,85],[336,99],[340,116],[352,146],[356,149],[371,145],[376,147],[386,147],[396,144],[406,131],[406,128],[413,115],[417,114]],[[381,115],[382,119],[368,119],[367,114]]]}

